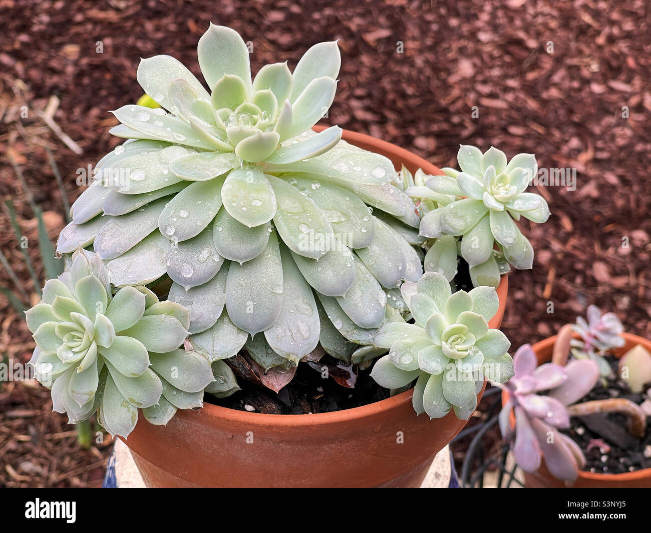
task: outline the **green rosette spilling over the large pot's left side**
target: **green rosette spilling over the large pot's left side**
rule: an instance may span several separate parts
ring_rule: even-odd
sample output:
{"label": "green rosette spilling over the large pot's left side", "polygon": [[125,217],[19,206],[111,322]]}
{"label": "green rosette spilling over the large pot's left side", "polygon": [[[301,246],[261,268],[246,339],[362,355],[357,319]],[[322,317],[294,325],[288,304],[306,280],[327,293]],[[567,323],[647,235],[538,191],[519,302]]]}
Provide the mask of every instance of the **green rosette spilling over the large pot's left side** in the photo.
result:
{"label": "green rosette spilling over the large pot's left side", "polygon": [[112,295],[104,264],[84,250],[59,279],[46,282],[26,319],[36,341],[36,379],[71,424],[98,411],[105,430],[127,437],[138,409],[153,424],[167,424],[177,408],[201,407],[213,381],[205,357],[179,349],[187,309],[159,302],[143,286]]}

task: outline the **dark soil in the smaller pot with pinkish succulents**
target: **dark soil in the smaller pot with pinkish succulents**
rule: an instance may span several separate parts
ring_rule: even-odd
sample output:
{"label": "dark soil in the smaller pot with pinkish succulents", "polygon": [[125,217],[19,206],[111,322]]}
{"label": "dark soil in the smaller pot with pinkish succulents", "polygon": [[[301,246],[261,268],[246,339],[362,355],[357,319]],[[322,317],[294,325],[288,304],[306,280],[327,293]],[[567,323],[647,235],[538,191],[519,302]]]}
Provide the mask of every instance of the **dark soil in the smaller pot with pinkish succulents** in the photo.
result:
{"label": "dark soil in the smaller pot with pinkish succulents", "polygon": [[[605,387],[598,383],[579,402],[626,398],[640,405],[644,394],[633,394],[626,384],[618,379],[618,360],[606,356],[613,369],[613,377],[606,379]],[[642,439],[637,439],[626,430],[626,417],[618,413],[600,413],[589,417],[574,417],[566,435],[579,444],[585,454],[583,470],[599,474],[623,474],[651,468],[651,428],[646,426]]]}

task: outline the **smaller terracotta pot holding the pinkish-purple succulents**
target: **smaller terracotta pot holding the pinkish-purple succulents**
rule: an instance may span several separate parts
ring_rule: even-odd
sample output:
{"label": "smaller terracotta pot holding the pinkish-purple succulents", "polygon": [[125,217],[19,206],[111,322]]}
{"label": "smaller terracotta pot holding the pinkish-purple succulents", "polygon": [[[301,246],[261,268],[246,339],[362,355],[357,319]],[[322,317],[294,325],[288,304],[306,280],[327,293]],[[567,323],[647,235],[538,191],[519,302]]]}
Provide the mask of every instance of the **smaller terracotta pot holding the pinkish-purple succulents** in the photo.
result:
{"label": "smaller terracotta pot holding the pinkish-purple succulents", "polygon": [[[626,353],[626,351],[642,344],[644,348],[651,351],[651,342],[645,338],[630,333],[622,333],[626,344],[622,348],[615,351],[615,357],[619,358]],[[538,365],[544,362],[551,361],[551,351],[556,342],[556,336],[546,338],[540,342],[536,342],[531,348],[536,353],[538,358]],[[502,395],[502,404],[504,405],[508,395]],[[626,474],[597,474],[592,472],[579,472],[579,477],[574,484],[566,484],[554,478],[545,467],[543,459],[542,465],[538,471],[525,474],[525,485],[527,487],[573,487],[573,488],[623,488],[623,487],[651,487],[651,468],[638,470],[635,472],[626,472]]]}

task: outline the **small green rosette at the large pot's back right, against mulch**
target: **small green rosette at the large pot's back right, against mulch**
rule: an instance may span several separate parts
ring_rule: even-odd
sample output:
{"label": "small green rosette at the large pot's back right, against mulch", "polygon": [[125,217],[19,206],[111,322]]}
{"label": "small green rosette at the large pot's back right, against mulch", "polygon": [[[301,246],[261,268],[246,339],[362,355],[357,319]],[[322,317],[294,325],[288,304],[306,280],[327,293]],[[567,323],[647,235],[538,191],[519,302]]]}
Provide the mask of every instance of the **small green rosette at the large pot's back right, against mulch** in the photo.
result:
{"label": "small green rosette at the large pot's back right, against mulch", "polygon": [[461,171],[445,168],[444,175],[424,176],[420,184],[406,189],[410,197],[427,202],[420,234],[436,239],[425,268],[452,280],[459,254],[468,263],[475,286],[497,286],[500,275],[508,271],[507,263],[518,269],[533,266],[533,248],[514,219],[523,216],[544,223],[549,218],[544,198],[525,193],[538,174],[536,157],[518,154],[507,163],[497,148],[482,154],[475,146],[462,144],[457,160]]}

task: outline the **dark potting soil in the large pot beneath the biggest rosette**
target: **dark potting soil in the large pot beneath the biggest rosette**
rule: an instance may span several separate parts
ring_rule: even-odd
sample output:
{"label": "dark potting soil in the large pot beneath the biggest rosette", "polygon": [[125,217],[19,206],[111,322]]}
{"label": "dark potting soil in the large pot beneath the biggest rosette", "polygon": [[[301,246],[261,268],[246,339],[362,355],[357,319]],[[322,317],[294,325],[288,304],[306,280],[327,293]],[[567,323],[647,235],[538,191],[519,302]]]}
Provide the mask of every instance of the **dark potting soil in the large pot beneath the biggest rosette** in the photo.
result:
{"label": "dark potting soil in the large pot beneath the biggest rosette", "polygon": [[[320,362],[337,364],[337,360],[328,355]],[[278,394],[240,378],[238,385],[242,390],[228,398],[214,398],[205,394],[204,402],[268,415],[307,415],[352,409],[389,398],[389,390],[380,387],[370,377],[370,368],[359,371],[354,389],[342,387],[334,379],[321,376],[321,372],[303,362],[298,365],[294,379]]]}

